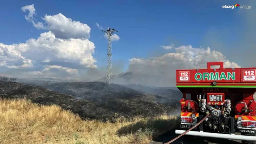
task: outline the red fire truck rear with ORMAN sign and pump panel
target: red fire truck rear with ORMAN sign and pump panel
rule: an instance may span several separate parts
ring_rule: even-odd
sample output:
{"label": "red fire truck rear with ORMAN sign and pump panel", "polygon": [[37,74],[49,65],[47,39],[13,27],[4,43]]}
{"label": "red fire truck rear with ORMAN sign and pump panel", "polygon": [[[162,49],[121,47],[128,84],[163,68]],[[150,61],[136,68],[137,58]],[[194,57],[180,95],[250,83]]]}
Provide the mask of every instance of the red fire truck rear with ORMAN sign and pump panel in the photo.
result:
{"label": "red fire truck rear with ORMAN sign and pump panel", "polygon": [[183,93],[176,134],[198,125],[185,135],[256,144],[256,67],[224,68],[223,62],[208,62],[207,69],[176,70],[176,87]]}

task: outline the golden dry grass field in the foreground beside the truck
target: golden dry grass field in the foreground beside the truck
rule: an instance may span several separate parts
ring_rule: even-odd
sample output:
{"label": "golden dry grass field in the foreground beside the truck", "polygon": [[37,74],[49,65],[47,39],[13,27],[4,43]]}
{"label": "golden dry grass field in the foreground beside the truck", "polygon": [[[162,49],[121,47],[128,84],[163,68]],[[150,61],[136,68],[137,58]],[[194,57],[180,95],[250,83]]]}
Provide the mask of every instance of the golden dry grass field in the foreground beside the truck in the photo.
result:
{"label": "golden dry grass field in the foreground beside the truck", "polygon": [[83,121],[59,106],[0,99],[1,144],[146,144],[179,124],[176,117]]}

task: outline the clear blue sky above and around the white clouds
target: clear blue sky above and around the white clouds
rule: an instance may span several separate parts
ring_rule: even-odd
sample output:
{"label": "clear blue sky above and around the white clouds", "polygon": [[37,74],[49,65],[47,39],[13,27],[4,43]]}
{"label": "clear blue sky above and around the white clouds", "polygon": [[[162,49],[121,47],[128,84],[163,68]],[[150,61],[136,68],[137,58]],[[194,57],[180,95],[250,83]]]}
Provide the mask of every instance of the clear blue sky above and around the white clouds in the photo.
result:
{"label": "clear blue sky above and around the white clouds", "polygon": [[[222,5],[232,5],[241,1],[86,1],[86,0],[44,0],[44,1],[3,1],[0,7],[0,43],[25,43],[30,38],[37,38],[46,30],[38,30],[26,21],[22,6],[34,4],[35,19],[62,13],[73,21],[86,23],[90,28],[89,40],[95,44],[94,58],[96,65],[106,63],[107,40],[103,32],[95,25],[114,28],[119,32],[120,40],[112,42],[112,60],[123,61],[124,71],[128,59],[161,56],[174,49],[165,50],[161,45],[173,43],[175,47],[192,45],[192,47],[210,47],[227,56],[232,62],[242,65],[230,54],[235,51],[236,42],[244,35],[247,23],[244,10],[223,9]],[[243,3],[246,4],[246,3]],[[236,56],[239,53],[235,53]]]}

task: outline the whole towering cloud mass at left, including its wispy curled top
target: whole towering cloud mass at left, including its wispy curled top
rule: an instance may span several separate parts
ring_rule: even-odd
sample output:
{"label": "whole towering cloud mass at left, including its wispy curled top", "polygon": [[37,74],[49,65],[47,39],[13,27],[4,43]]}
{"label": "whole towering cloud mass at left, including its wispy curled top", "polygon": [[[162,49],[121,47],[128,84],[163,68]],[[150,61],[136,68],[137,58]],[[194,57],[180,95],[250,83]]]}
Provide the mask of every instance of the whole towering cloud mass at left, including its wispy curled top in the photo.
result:
{"label": "whole towering cloud mass at left, including its wispy curled top", "polygon": [[0,42],[0,74],[23,77],[76,79],[88,77],[86,70],[96,69],[95,45],[88,38],[90,27],[63,14],[35,22],[34,5],[23,6],[29,11],[25,19],[38,29],[49,30],[25,43],[7,45]]}

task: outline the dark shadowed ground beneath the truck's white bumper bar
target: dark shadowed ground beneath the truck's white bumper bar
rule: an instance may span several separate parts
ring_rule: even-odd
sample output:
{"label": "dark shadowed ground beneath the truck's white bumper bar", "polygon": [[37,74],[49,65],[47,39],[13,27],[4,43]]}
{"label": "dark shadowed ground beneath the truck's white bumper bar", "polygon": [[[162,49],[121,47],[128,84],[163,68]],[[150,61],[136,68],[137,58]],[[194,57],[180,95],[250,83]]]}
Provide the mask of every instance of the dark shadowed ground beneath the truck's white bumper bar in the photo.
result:
{"label": "dark shadowed ground beneath the truck's white bumper bar", "polygon": [[[240,135],[236,133],[236,135]],[[178,136],[175,131],[168,132],[157,139],[154,139],[150,144],[164,144]],[[182,143],[183,142],[183,143]],[[241,140],[229,140],[229,139],[216,139],[206,137],[194,137],[185,135],[171,144],[241,144]]]}

